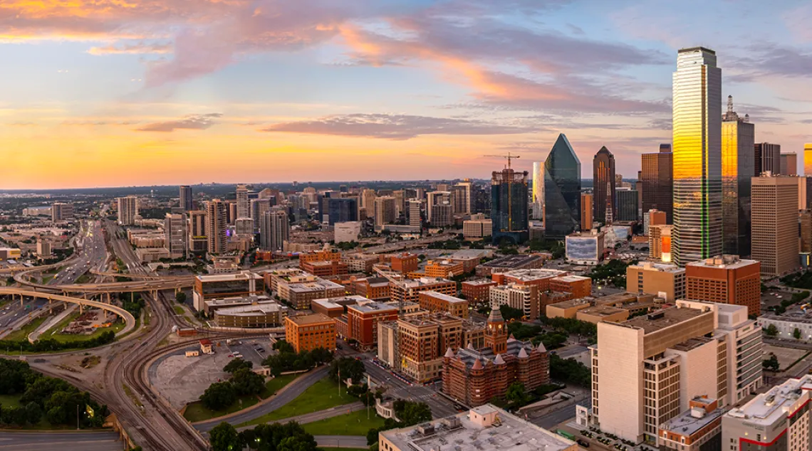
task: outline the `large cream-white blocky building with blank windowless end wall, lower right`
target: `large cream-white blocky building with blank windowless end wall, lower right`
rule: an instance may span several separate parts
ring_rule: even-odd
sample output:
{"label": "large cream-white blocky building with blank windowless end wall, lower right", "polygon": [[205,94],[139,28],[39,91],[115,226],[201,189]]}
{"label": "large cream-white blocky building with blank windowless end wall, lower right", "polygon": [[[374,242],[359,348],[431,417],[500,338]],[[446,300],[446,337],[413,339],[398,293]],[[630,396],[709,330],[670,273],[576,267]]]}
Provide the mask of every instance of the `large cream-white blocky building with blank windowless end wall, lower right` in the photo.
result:
{"label": "large cream-white blocky building with blank windowless end wall, lower right", "polygon": [[746,307],[704,301],[598,323],[590,347],[594,423],[604,434],[657,443],[660,425],[690,410],[695,397],[736,404],[761,387],[761,336]]}

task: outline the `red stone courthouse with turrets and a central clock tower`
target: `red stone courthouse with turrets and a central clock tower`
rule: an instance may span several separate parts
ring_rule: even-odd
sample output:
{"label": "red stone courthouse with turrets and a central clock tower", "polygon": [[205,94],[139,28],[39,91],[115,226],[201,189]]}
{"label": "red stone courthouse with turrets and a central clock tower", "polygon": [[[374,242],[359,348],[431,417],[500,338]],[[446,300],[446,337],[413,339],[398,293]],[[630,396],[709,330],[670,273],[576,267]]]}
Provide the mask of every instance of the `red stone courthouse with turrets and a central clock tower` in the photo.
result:
{"label": "red stone courthouse with turrets and a central clock tower", "polygon": [[504,397],[508,386],[520,382],[533,390],[550,382],[550,360],[544,345],[508,339],[499,310],[491,311],[485,330],[486,347],[473,346],[443,357],[443,392],[464,404],[482,406]]}

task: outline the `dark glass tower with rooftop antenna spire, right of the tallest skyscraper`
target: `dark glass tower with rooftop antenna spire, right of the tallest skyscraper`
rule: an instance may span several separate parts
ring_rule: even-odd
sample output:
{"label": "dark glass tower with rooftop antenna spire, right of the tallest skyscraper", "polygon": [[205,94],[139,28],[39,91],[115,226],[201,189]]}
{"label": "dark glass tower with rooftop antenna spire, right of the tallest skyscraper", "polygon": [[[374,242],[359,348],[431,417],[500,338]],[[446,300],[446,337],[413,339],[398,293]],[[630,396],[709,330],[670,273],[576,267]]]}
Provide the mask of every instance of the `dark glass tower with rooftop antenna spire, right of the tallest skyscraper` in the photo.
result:
{"label": "dark glass tower with rooftop antenna spire, right of the tallest skyscraper", "polygon": [[755,171],[755,126],[749,115],[733,111],[722,120],[722,231],[723,251],[734,256],[750,255],[750,174]]}

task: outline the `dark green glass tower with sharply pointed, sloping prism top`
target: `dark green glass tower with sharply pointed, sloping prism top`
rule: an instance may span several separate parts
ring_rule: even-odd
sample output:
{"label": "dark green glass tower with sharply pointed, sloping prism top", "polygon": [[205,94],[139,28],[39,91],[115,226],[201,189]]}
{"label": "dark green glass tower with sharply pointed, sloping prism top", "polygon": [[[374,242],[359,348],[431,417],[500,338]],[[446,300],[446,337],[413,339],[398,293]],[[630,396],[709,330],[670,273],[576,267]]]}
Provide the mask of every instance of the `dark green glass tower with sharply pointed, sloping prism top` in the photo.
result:
{"label": "dark green glass tower with sharply pointed, sloping prism top", "polygon": [[544,161],[544,234],[564,239],[579,226],[581,161],[562,133]]}

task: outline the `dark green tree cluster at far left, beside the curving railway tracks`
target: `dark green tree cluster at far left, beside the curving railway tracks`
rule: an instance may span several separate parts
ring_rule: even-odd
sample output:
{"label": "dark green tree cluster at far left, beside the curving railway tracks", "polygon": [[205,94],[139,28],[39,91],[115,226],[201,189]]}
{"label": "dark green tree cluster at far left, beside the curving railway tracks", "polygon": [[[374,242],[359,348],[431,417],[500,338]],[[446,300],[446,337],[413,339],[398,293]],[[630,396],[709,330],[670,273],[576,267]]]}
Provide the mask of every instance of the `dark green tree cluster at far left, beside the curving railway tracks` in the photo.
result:
{"label": "dark green tree cluster at far left, beside the curving railway tracks", "polygon": [[[89,393],[35,372],[19,360],[0,359],[0,393],[21,393],[19,407],[0,406],[0,422],[5,424],[37,424],[44,415],[51,425],[74,425],[78,414],[81,426],[101,427],[107,415],[107,406],[99,406]],[[87,407],[93,410],[92,416]]]}

